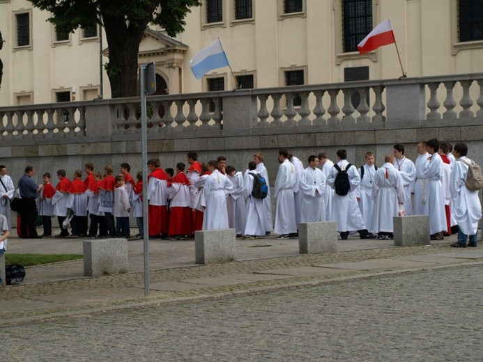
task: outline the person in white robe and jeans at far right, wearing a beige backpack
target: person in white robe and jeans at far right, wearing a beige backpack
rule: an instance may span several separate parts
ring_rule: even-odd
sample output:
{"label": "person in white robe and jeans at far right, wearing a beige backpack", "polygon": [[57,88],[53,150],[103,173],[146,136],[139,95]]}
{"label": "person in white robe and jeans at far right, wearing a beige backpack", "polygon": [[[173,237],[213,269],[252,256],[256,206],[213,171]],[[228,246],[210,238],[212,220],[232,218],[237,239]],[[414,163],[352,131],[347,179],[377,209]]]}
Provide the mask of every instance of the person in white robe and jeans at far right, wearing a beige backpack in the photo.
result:
{"label": "person in white robe and jeans at far right, wearing a beige backpack", "polygon": [[456,162],[451,173],[450,190],[454,219],[456,219],[459,231],[458,242],[451,244],[452,247],[465,247],[469,236],[468,246],[477,246],[478,221],[482,218],[482,205],[478,191],[470,191],[466,187],[468,165],[471,160],[466,157],[468,146],[465,143],[454,145],[453,155]]}

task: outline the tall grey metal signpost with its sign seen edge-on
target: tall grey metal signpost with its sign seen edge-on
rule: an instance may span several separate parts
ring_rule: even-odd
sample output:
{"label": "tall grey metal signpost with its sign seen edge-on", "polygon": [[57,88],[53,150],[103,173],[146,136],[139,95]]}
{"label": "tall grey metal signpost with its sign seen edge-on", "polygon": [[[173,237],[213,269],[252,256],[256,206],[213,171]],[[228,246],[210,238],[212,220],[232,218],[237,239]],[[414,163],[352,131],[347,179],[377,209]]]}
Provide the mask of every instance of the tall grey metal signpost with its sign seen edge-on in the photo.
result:
{"label": "tall grey metal signpost with its sign seen edge-on", "polygon": [[149,230],[148,230],[148,145],[146,116],[146,65],[139,68],[139,94],[141,95],[141,154],[143,170],[143,244],[144,244],[144,296],[149,295]]}

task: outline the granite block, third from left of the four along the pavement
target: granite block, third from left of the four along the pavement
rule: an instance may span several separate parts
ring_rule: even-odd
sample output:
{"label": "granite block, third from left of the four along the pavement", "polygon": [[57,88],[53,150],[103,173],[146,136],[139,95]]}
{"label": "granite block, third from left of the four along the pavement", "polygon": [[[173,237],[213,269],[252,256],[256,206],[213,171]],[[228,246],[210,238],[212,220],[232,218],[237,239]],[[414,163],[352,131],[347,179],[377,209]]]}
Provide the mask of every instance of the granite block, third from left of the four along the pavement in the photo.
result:
{"label": "granite block, third from left of the four along the pavement", "polygon": [[337,251],[337,223],[321,221],[298,224],[300,254],[335,253]]}

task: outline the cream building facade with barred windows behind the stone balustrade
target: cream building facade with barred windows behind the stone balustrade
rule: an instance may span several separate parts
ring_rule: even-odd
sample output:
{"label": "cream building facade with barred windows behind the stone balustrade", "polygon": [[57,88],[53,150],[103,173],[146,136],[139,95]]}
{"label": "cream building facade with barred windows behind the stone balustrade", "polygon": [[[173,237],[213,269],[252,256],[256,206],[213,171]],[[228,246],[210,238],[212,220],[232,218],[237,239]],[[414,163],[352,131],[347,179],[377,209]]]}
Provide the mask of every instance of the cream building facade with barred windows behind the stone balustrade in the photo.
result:
{"label": "cream building facade with barred windows behind the stone balustrade", "polygon": [[[158,94],[330,84],[483,71],[480,0],[203,0],[176,39],[148,29],[139,64],[155,61]],[[101,28],[61,34],[26,0],[0,0],[0,107],[109,98]],[[360,55],[390,18],[397,41]],[[220,38],[231,64],[196,79],[190,58]],[[402,67],[401,67],[402,65]],[[401,69],[402,68],[402,69]],[[297,105],[294,100],[294,105]]]}

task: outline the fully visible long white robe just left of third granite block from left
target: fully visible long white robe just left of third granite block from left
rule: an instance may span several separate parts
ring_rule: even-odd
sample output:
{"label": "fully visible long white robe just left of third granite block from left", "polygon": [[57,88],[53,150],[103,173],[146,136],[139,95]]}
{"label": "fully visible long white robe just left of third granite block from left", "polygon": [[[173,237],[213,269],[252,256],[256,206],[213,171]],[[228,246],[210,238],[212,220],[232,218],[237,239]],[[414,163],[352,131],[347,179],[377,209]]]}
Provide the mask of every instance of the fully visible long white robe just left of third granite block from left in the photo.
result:
{"label": "fully visible long white robe just left of third granite block from left", "polygon": [[297,233],[295,219],[295,200],[293,199],[293,185],[295,184],[295,167],[289,161],[284,160],[278,168],[273,196],[277,198],[275,210],[275,233]]}

